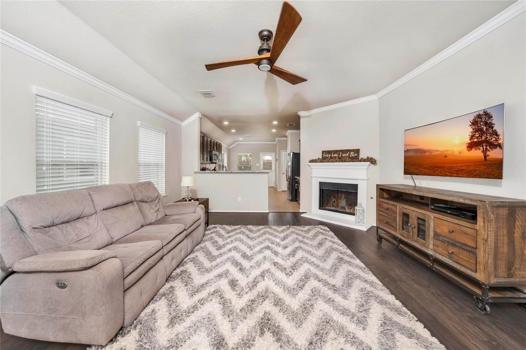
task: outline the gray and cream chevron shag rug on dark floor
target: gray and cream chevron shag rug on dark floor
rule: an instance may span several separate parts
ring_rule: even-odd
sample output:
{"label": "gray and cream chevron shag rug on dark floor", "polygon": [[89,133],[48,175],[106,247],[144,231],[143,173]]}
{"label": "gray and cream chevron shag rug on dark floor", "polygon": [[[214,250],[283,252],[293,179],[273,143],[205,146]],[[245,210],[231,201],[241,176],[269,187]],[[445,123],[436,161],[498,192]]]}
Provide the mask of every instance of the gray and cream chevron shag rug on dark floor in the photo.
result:
{"label": "gray and cream chevron shag rug on dark floor", "polygon": [[224,225],[105,348],[444,349],[328,228]]}

